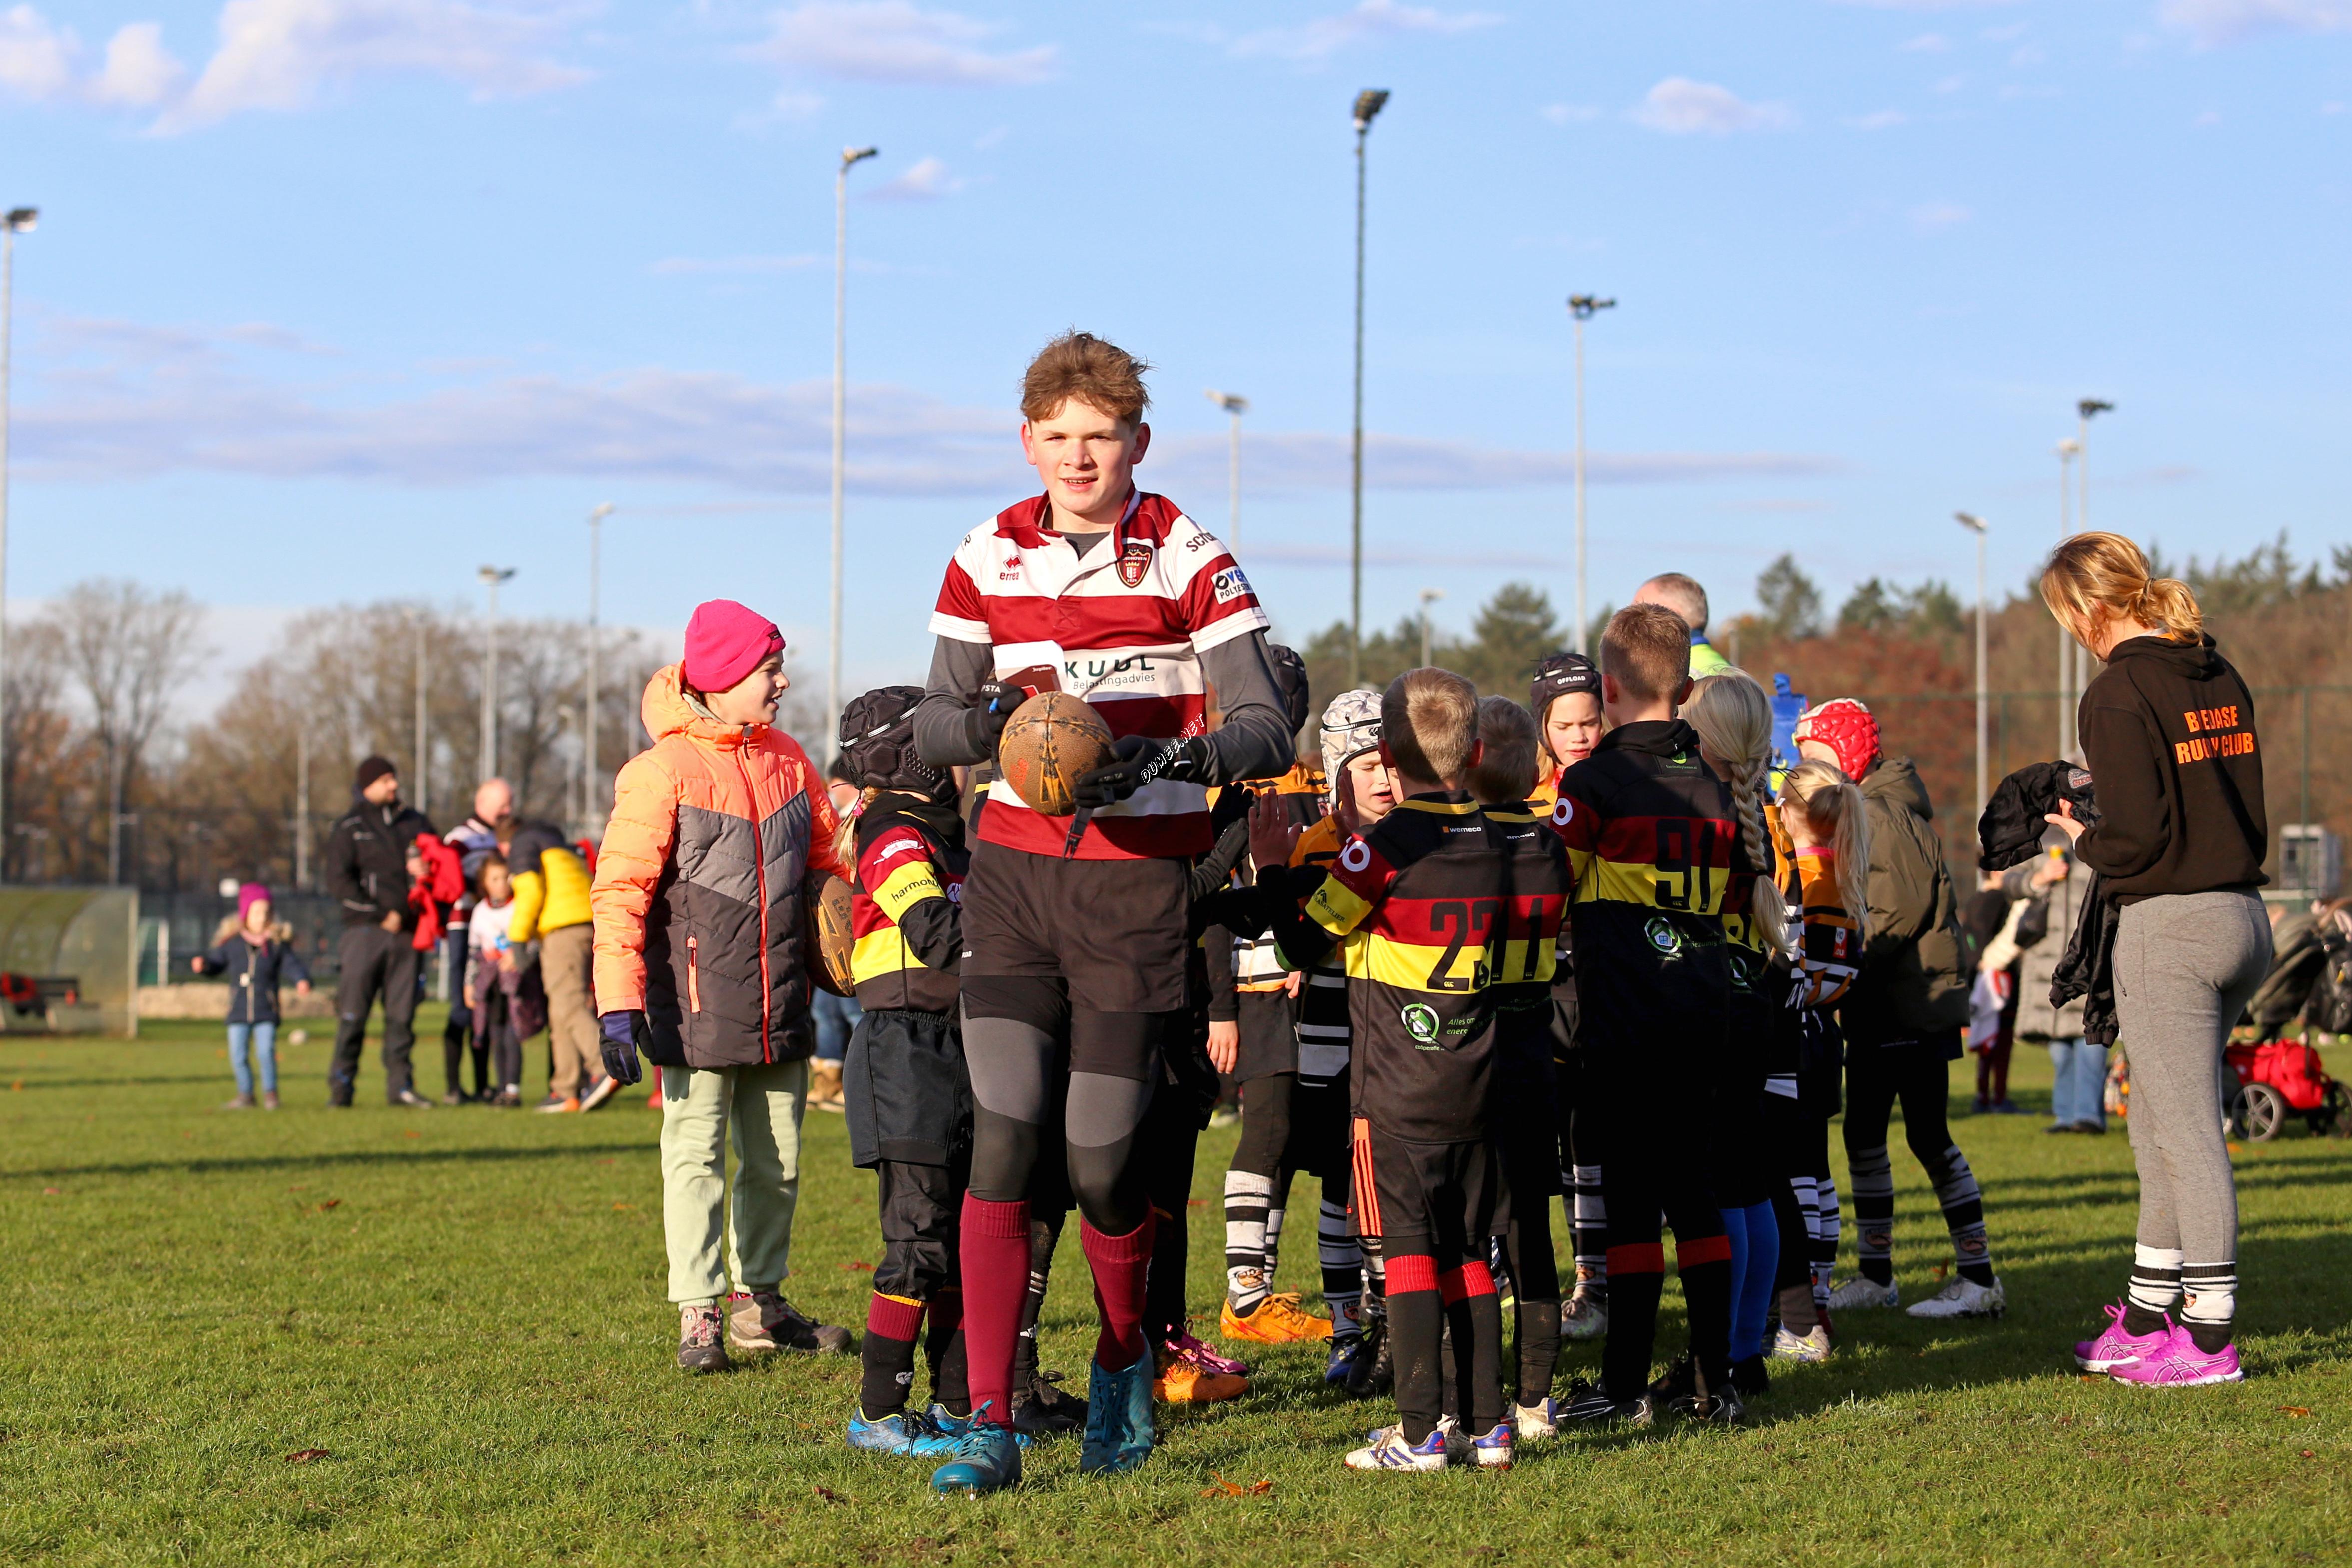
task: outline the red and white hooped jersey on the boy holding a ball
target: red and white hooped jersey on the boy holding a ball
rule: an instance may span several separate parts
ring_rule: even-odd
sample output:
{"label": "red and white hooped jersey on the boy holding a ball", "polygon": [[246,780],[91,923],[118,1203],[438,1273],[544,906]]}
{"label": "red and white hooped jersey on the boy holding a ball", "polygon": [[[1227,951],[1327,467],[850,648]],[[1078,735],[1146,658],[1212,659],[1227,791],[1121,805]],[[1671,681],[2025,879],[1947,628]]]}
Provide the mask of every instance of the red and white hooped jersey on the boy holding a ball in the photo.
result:
{"label": "red and white hooped jersey on the boy holding a ball", "polygon": [[[931,611],[931,632],[985,642],[997,675],[1061,670],[1112,736],[1181,741],[1209,729],[1200,656],[1268,621],[1232,552],[1167,496],[1136,494],[1110,538],[1080,555],[1051,531],[1044,496],[964,534]],[[1037,816],[990,785],[978,837],[1058,856],[1070,818]],[[1214,846],[1209,790],[1171,778],[1091,816],[1080,860],[1197,856]]]}

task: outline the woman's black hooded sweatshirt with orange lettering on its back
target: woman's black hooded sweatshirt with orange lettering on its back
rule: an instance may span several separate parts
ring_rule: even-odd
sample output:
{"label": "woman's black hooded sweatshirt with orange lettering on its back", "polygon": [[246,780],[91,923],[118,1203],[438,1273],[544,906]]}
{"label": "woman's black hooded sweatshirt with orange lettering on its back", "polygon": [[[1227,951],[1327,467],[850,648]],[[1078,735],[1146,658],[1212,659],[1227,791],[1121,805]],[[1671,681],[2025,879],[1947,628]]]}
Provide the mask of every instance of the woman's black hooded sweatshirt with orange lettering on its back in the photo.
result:
{"label": "woman's black hooded sweatshirt with orange lettering on its back", "polygon": [[2124,903],[2267,882],[2253,698],[2211,637],[2129,637],[2082,693],[2096,827],[2074,851]]}

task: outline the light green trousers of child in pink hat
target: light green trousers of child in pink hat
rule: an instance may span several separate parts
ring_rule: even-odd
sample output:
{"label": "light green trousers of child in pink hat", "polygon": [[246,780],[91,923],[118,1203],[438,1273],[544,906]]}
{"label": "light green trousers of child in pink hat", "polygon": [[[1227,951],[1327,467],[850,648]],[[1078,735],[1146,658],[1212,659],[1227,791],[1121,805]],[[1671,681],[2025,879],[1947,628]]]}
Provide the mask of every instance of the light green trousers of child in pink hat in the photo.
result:
{"label": "light green trousers of child in pink hat", "polygon": [[661,1229],[680,1307],[715,1305],[729,1276],[774,1291],[790,1274],[807,1107],[809,1063],[661,1070]]}

